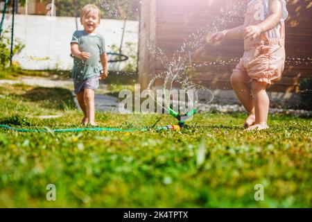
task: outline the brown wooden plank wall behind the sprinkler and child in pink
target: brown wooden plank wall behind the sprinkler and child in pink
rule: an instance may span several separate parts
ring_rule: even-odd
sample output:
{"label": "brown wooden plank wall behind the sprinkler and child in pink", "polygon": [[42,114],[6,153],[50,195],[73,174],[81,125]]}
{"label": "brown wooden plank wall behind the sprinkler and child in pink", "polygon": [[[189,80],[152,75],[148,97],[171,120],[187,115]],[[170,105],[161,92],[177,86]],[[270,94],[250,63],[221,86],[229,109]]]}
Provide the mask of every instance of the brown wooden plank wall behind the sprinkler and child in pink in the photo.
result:
{"label": "brown wooden plank wall behind the sprinkler and child in pink", "polygon": [[[196,33],[198,28],[220,15],[222,6],[226,12],[238,0],[145,0],[142,1],[140,19],[139,74],[141,87],[146,87],[150,77],[146,74],[158,74],[164,67],[148,51],[146,40],[166,53],[169,58],[180,49],[184,38]],[[288,0],[289,17],[286,21],[286,57],[309,58],[312,52],[312,3],[309,0]],[[236,19],[237,20],[237,19]],[[228,24],[227,28],[239,26],[243,22]],[[231,60],[243,55],[242,40],[227,40],[218,46],[208,46],[205,62]],[[195,61],[196,62],[196,61]],[[198,61],[200,62],[200,61]],[[198,69],[201,74],[193,78],[202,85],[217,89],[232,89],[229,76],[237,62],[230,65],[216,65]],[[281,80],[270,87],[274,92],[293,92],[300,80],[312,76],[311,63],[306,65],[286,65]],[[157,82],[156,85],[162,84]]]}

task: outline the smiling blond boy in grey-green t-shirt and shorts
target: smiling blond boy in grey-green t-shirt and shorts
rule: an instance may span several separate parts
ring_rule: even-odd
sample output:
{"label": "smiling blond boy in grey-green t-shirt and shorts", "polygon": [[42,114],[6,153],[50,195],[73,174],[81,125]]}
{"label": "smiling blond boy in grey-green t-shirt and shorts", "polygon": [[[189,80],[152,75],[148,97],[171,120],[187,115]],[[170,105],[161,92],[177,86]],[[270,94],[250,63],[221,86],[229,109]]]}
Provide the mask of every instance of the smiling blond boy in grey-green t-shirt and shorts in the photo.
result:
{"label": "smiling blond boy in grey-green t-shirt and shorts", "polygon": [[74,92],[77,96],[84,117],[83,124],[98,126],[95,122],[94,92],[99,80],[107,77],[107,53],[102,35],[96,33],[101,22],[101,10],[89,4],[80,12],[83,30],[75,31],[71,40],[71,54],[74,58],[73,78]]}

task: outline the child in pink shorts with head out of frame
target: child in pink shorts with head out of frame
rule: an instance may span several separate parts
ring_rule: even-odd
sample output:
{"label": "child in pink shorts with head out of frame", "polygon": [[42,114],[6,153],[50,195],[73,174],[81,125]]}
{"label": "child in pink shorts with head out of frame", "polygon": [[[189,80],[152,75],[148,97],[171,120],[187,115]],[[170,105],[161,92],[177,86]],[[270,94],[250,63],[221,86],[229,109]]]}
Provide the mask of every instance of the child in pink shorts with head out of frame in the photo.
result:
{"label": "child in pink shorts with head out of frame", "polygon": [[[244,38],[244,55],[233,70],[232,87],[249,115],[247,130],[268,128],[266,87],[279,80],[285,63],[285,0],[252,0],[242,26],[218,32],[211,44],[225,38]],[[251,92],[250,85],[251,84]]]}

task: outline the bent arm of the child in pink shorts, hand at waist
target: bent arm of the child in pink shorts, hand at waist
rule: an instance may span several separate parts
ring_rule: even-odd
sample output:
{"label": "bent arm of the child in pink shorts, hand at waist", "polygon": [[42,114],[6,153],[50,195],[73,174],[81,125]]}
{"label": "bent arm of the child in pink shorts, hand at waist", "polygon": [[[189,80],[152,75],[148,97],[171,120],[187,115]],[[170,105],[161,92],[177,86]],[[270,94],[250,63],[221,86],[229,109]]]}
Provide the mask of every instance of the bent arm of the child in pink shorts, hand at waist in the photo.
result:
{"label": "bent arm of the child in pink shorts, hand at waist", "polygon": [[265,33],[266,31],[269,31],[270,29],[277,26],[281,19],[281,1],[271,0],[270,12],[271,15],[257,26],[246,27],[243,37],[254,40],[254,38],[259,37],[261,33]]}

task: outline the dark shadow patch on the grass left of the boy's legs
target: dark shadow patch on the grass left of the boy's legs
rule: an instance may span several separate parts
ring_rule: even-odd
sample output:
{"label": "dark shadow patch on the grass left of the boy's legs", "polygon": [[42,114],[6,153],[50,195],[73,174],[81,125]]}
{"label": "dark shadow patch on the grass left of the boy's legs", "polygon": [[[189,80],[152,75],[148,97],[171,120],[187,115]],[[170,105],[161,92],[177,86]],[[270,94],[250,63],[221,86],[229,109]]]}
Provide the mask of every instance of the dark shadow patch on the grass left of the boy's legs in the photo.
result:
{"label": "dark shadow patch on the grass left of the boy's legs", "polygon": [[44,108],[57,110],[73,110],[76,108],[71,91],[60,87],[35,87],[19,96],[26,101],[40,103]]}

